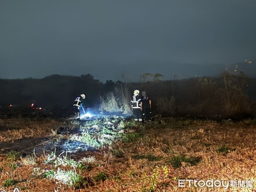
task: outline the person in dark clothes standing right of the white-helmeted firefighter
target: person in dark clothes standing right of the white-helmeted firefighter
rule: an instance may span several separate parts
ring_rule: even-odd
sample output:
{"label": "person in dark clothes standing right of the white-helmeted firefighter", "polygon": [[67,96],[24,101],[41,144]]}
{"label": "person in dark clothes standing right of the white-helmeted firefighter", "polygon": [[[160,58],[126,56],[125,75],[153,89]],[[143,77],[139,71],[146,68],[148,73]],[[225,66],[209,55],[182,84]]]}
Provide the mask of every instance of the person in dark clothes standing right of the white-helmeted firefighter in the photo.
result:
{"label": "person in dark clothes standing right of the white-helmeted firefighter", "polygon": [[142,91],[141,95],[140,111],[142,111],[143,121],[151,121],[151,100],[146,95],[145,91]]}

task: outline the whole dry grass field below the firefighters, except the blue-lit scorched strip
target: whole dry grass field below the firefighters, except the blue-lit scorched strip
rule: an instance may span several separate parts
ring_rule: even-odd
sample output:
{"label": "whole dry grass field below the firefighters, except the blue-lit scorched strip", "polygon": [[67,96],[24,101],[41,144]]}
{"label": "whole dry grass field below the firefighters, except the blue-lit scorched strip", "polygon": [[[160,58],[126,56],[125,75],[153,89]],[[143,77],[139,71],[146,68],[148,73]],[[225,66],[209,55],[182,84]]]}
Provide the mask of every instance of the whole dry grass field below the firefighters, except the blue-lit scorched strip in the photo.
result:
{"label": "whole dry grass field below the firefighters, except the blue-lit scorched strip", "polygon": [[[1,119],[0,189],[13,191],[17,187],[24,192],[256,190],[255,119],[216,122],[158,117],[147,124],[131,120],[119,124],[124,133],[111,145],[71,154],[65,151],[35,154],[34,148],[48,140],[70,137],[61,136],[58,129],[73,129],[79,122]],[[108,130],[105,133],[114,135]],[[251,188],[229,186],[227,190],[222,186],[181,188],[179,179],[253,180],[253,184]]]}

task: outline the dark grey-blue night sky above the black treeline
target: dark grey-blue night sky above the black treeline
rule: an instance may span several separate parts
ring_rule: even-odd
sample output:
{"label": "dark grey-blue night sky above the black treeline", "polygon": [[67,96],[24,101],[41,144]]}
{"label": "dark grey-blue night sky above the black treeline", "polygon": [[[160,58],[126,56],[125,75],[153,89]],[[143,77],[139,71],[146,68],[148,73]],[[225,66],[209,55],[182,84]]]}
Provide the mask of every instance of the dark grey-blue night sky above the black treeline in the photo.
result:
{"label": "dark grey-blue night sky above the black treeline", "polygon": [[215,75],[255,53],[256,0],[0,0],[2,79]]}

